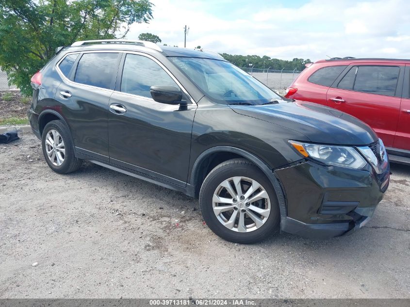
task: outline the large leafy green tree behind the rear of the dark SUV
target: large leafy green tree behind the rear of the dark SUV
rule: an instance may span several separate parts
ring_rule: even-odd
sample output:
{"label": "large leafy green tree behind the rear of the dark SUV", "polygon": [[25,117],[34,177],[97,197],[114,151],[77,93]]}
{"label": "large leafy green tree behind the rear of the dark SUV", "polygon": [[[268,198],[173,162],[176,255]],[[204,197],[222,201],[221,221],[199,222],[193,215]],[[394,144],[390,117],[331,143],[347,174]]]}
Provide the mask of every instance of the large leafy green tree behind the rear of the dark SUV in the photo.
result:
{"label": "large leafy green tree behind the rear of the dark SUV", "polygon": [[123,38],[152,18],[149,0],[0,0],[0,66],[29,94],[30,77],[77,40]]}

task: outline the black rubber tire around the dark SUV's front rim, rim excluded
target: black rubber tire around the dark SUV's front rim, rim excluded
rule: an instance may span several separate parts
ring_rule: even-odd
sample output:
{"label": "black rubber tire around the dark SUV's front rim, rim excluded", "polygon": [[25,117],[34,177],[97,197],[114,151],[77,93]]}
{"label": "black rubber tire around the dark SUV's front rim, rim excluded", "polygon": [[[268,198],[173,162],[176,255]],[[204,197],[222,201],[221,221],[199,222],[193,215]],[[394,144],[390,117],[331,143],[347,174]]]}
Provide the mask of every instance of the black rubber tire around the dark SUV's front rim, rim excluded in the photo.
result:
{"label": "black rubber tire around the dark SUV's front rim, rim excluded", "polygon": [[[271,211],[259,228],[249,232],[237,232],[224,226],[213,212],[213,194],[218,186],[232,177],[256,180],[269,195]],[[279,230],[280,212],[278,198],[271,182],[262,171],[246,159],[232,159],[216,166],[205,178],[199,193],[199,206],[208,227],[219,237],[230,242],[251,244],[266,240]]]}

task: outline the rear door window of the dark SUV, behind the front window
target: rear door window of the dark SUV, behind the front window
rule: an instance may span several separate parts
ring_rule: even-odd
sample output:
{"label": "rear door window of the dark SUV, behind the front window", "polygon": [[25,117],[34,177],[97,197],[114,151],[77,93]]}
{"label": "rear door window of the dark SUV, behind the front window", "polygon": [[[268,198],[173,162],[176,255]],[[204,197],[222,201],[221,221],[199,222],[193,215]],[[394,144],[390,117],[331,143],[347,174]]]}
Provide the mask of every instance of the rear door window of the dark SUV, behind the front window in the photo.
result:
{"label": "rear door window of the dark SUV, behind the front window", "polygon": [[84,53],[78,63],[75,82],[111,88],[117,72],[118,53]]}

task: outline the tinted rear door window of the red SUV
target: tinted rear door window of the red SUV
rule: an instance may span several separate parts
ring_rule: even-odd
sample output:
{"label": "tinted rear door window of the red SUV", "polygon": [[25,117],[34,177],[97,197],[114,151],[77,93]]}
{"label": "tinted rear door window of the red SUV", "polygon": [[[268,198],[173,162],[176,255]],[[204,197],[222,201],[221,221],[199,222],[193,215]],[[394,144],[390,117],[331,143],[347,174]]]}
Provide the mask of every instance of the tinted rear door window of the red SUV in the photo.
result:
{"label": "tinted rear door window of the red SUV", "polygon": [[355,84],[355,91],[394,96],[400,67],[398,66],[359,66]]}

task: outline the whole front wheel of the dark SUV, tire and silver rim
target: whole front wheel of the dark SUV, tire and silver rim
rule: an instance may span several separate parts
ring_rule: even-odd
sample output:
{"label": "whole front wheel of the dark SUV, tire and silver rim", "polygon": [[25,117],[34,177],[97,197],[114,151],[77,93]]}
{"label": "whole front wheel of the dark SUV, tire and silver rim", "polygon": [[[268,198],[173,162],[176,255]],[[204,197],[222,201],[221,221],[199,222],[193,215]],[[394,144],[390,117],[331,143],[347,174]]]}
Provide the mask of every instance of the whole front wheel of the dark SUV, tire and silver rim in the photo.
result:
{"label": "whole front wheel of the dark SUV, tire and silver rim", "polygon": [[279,206],[272,184],[245,159],[216,166],[202,184],[199,205],[209,228],[230,242],[261,242],[279,229]]}

